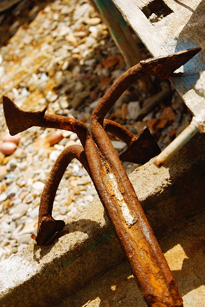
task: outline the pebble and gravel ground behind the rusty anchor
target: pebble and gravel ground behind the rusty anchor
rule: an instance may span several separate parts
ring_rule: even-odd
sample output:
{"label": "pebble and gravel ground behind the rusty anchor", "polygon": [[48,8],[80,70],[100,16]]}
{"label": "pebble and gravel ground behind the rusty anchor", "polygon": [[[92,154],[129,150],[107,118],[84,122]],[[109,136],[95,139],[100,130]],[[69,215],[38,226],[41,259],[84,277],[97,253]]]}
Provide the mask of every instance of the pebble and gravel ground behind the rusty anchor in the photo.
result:
{"label": "pebble and gravel ground behind the rusty anchor", "polygon": [[[24,111],[40,111],[46,105],[48,113],[74,117],[89,128],[95,106],[127,69],[106,25],[86,0],[21,1],[0,13],[0,29],[0,94],[7,94]],[[137,37],[136,41],[143,57],[150,57]],[[168,80],[152,81],[151,95],[134,83],[107,118],[135,134],[148,126],[164,149],[192,116]],[[80,141],[74,133],[32,127],[12,140],[12,154],[4,154],[10,138],[2,103],[0,119],[2,261],[31,241],[52,165],[65,147]],[[117,138],[110,139],[118,152],[126,148]],[[138,166],[123,165],[127,173]],[[96,195],[87,172],[73,160],[56,193],[53,217],[64,219]]]}

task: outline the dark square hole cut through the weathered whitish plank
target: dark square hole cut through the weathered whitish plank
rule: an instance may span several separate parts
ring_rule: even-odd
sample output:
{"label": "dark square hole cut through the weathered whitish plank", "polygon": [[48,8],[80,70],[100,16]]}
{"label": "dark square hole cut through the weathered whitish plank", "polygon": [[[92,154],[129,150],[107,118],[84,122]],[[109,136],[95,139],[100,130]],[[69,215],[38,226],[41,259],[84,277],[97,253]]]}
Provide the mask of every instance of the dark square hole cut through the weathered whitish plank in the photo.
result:
{"label": "dark square hole cut through the weathered whitish plank", "polygon": [[157,15],[158,18],[166,17],[173,13],[170,7],[168,7],[162,0],[153,0],[152,2],[149,2],[149,4],[144,6],[141,11],[148,19],[153,13]]}

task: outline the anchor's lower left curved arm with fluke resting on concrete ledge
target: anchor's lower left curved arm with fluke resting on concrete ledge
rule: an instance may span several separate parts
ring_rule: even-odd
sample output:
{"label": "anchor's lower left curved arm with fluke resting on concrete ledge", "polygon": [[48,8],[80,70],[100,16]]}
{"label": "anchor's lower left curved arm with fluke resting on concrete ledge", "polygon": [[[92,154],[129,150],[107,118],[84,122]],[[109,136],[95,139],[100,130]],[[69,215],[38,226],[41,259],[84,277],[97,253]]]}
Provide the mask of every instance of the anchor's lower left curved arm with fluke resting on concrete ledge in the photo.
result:
{"label": "anchor's lower left curved arm with fluke resting on concrete ledge", "polygon": [[[87,172],[90,174],[90,169],[87,163],[87,158],[83,147],[80,145],[71,145],[65,148],[56,159],[48,179],[45,183],[38,214],[37,236],[31,235],[32,239],[36,240],[39,246],[46,245],[48,240],[55,239],[57,233],[64,228],[63,220],[54,220],[52,217],[52,208],[57,188],[63,177],[69,163],[74,159],[78,159]],[[51,243],[51,242],[50,242]],[[49,243],[49,244],[50,244]]]}

